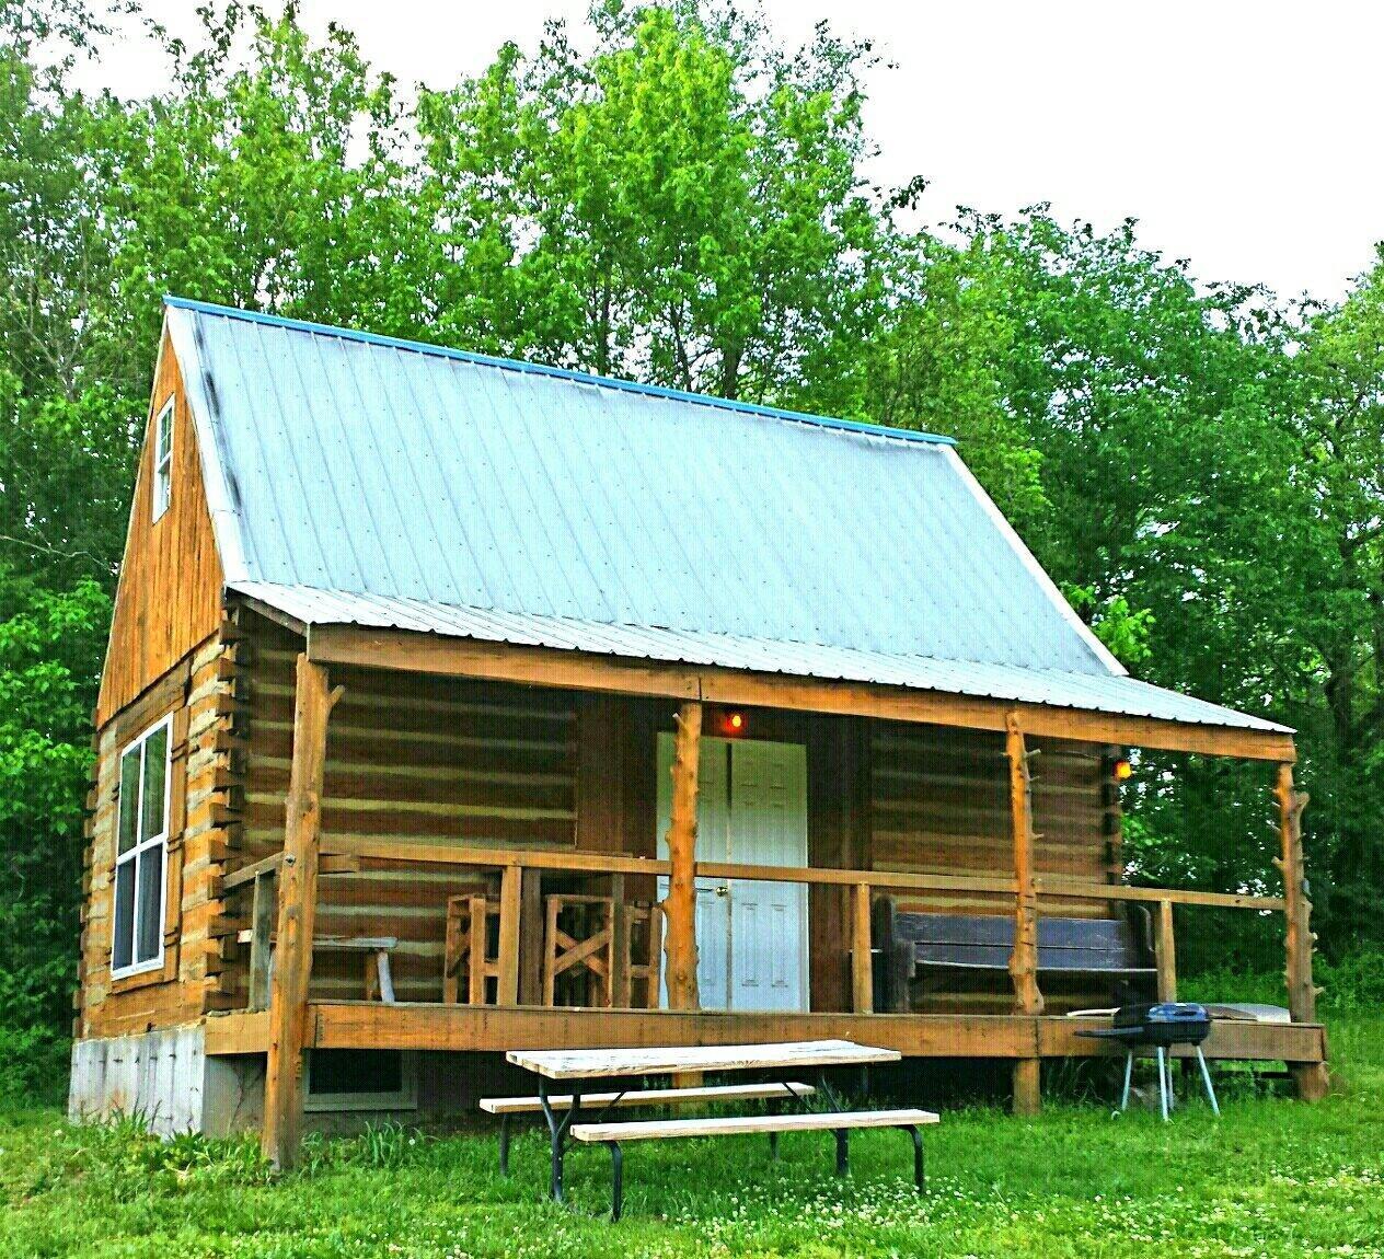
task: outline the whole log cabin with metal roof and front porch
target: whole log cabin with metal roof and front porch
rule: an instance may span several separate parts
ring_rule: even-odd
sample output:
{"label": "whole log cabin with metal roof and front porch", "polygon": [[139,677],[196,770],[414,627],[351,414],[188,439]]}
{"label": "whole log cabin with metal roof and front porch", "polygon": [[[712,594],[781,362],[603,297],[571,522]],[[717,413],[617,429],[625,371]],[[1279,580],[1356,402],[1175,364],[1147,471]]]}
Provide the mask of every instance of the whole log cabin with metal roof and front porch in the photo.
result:
{"label": "whole log cabin with metal roof and front porch", "polygon": [[[1031,1112],[1185,905],[1284,927],[1208,1056],[1326,1083],[1293,732],[1131,678],[945,437],[170,297],[95,729],[78,1118],[286,1165],[509,1049],[817,1036]],[[1280,894],[1131,885],[1133,748],[1262,764]]]}

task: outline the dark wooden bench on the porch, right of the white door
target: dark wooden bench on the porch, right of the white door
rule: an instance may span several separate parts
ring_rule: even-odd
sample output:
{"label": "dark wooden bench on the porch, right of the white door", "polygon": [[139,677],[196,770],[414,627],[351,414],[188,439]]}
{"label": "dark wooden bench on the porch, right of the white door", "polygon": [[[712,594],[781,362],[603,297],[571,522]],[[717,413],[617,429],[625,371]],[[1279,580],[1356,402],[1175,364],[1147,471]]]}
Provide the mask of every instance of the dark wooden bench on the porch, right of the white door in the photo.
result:
{"label": "dark wooden bench on the porch, right of the white door", "polygon": [[[908,984],[925,971],[1005,973],[1014,946],[1012,915],[913,913],[889,897],[873,909],[880,949],[879,1009],[909,1011]],[[1039,974],[1157,977],[1151,948],[1128,919],[1038,919]]]}

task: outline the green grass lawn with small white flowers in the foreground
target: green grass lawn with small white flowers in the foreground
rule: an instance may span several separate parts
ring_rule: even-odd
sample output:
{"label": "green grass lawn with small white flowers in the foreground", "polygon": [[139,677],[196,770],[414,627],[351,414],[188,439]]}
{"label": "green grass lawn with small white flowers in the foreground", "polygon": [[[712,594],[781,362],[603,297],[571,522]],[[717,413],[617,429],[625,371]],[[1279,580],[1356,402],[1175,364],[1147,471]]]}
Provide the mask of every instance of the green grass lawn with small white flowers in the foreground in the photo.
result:
{"label": "green grass lawn with small white flowers in the foreground", "polygon": [[603,1217],[609,1159],[569,1157],[570,1205],[543,1198],[547,1143],[401,1130],[316,1143],[274,1183],[252,1141],[159,1143],[131,1125],[68,1128],[0,1112],[0,1256],[1384,1256],[1384,1017],[1331,1024],[1342,1092],[1319,1105],[1228,1083],[1225,1118],[1189,1104],[1111,1119],[1050,1105],[1035,1121],[947,1112],[926,1133],[929,1194],[908,1139],[727,1137],[626,1152],[626,1219]]}

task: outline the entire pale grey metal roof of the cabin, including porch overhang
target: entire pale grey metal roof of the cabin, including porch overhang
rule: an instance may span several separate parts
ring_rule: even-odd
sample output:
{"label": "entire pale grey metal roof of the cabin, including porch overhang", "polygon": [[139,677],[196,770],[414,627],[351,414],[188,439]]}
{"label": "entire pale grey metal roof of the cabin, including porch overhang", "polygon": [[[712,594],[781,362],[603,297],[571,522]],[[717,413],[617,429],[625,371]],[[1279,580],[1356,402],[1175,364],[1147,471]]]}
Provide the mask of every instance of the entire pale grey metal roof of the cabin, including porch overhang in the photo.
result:
{"label": "entire pale grey metal roof of the cabin, including porch overhang", "polygon": [[947,439],[177,299],[166,327],[227,584],[304,624],[1282,729],[1124,678]]}

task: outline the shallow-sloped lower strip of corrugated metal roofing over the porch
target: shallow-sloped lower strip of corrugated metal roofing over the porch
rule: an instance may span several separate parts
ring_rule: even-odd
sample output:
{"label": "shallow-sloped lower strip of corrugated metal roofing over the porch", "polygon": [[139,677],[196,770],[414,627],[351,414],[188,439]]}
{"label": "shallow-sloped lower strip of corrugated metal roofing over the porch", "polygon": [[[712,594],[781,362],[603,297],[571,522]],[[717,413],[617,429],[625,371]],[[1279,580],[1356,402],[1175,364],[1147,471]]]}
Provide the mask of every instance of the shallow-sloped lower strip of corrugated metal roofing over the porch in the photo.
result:
{"label": "shallow-sloped lower strip of corrugated metal roofing over the porch", "polygon": [[1048,704],[1129,717],[1153,717],[1190,725],[1235,726],[1247,730],[1284,730],[1284,726],[1247,717],[1204,700],[1150,686],[1133,678],[1019,668],[965,660],[930,660],[706,634],[689,630],[648,630],[603,625],[475,607],[450,607],[419,599],[382,599],[259,581],[235,584],[241,594],[286,613],[303,625],[364,625],[412,630],[451,638],[502,642],[515,646],[556,647],[667,664],[720,667],[786,674],[843,682],[871,682],[918,690],[943,690],[981,699]]}

